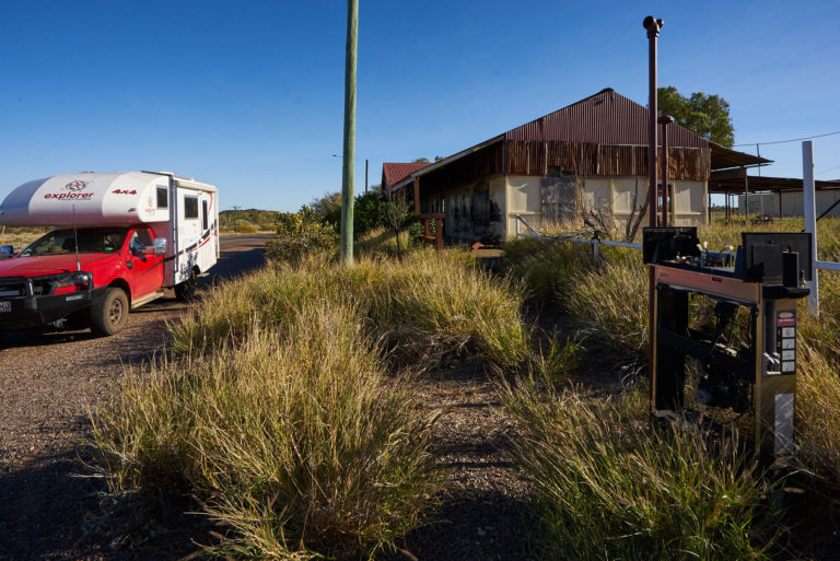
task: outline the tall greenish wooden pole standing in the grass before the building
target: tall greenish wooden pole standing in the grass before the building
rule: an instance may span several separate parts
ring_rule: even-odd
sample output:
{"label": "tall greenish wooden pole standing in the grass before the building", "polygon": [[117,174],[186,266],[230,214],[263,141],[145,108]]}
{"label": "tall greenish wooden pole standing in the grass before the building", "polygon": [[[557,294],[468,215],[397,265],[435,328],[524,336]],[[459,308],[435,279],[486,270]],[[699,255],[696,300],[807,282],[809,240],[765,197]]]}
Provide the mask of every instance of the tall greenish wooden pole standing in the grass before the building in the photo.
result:
{"label": "tall greenish wooden pole standing in the grass before the building", "polygon": [[345,71],[345,159],[341,178],[341,262],[353,264],[353,159],[355,152],[355,47],[359,0],[347,2],[347,60]]}

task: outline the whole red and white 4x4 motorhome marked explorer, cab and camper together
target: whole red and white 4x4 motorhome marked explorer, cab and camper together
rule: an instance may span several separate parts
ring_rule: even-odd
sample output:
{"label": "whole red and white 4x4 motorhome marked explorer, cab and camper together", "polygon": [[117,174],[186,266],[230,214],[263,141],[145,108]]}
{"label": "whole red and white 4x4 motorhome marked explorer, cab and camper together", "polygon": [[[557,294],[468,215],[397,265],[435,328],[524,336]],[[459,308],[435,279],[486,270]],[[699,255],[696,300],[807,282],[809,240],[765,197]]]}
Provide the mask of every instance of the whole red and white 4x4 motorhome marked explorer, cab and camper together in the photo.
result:
{"label": "whole red and white 4x4 motorhome marked explorer, cab and camper together", "polygon": [[0,261],[0,337],[65,319],[114,335],[165,289],[191,297],[219,259],[217,188],[166,172],[28,182],[0,204],[0,224],[52,227]]}

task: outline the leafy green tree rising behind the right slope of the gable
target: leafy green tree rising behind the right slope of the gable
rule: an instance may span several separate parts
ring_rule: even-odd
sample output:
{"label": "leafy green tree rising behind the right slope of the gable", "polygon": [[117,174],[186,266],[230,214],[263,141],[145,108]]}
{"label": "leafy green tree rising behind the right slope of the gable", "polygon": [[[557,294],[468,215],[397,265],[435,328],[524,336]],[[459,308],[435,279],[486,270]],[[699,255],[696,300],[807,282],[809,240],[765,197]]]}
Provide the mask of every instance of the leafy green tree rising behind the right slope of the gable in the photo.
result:
{"label": "leafy green tree rising behind the right slope of the gable", "polygon": [[685,97],[673,85],[660,87],[656,93],[663,115],[670,115],[677,124],[704,139],[732,148],[735,137],[726,100],[703,92],[695,92],[691,97]]}

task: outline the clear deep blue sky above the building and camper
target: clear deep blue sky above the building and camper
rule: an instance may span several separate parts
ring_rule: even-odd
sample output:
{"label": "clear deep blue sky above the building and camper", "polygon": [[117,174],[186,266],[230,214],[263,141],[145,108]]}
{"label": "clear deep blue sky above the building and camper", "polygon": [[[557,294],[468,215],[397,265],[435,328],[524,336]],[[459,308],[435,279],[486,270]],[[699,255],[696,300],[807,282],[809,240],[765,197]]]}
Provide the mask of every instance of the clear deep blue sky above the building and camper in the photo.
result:
{"label": "clear deep blue sky above the building and camper", "polygon": [[[168,170],[222,208],[296,210],[341,186],[340,0],[0,4],[0,198],[74,171]],[[448,155],[604,87],[731,104],[735,142],[840,131],[835,2],[360,0],[357,192],[382,162]],[[840,177],[840,135],[814,140]],[[742,150],[755,153],[755,145]],[[800,142],[765,175],[801,177]],[[825,172],[825,173],[821,173]]]}

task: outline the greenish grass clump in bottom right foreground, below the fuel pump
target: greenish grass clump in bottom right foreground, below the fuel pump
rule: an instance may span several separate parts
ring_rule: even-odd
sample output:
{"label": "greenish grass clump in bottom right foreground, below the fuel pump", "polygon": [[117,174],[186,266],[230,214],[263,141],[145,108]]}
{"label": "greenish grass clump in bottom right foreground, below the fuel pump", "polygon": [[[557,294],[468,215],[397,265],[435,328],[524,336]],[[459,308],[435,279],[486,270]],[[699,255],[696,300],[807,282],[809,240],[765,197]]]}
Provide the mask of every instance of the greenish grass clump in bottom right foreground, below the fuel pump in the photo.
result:
{"label": "greenish grass clump in bottom right foreground, below the fuel pump", "polygon": [[521,431],[514,455],[536,493],[539,559],[767,559],[767,489],[737,443],[651,431],[639,395],[587,402],[546,388],[538,377],[505,388]]}

